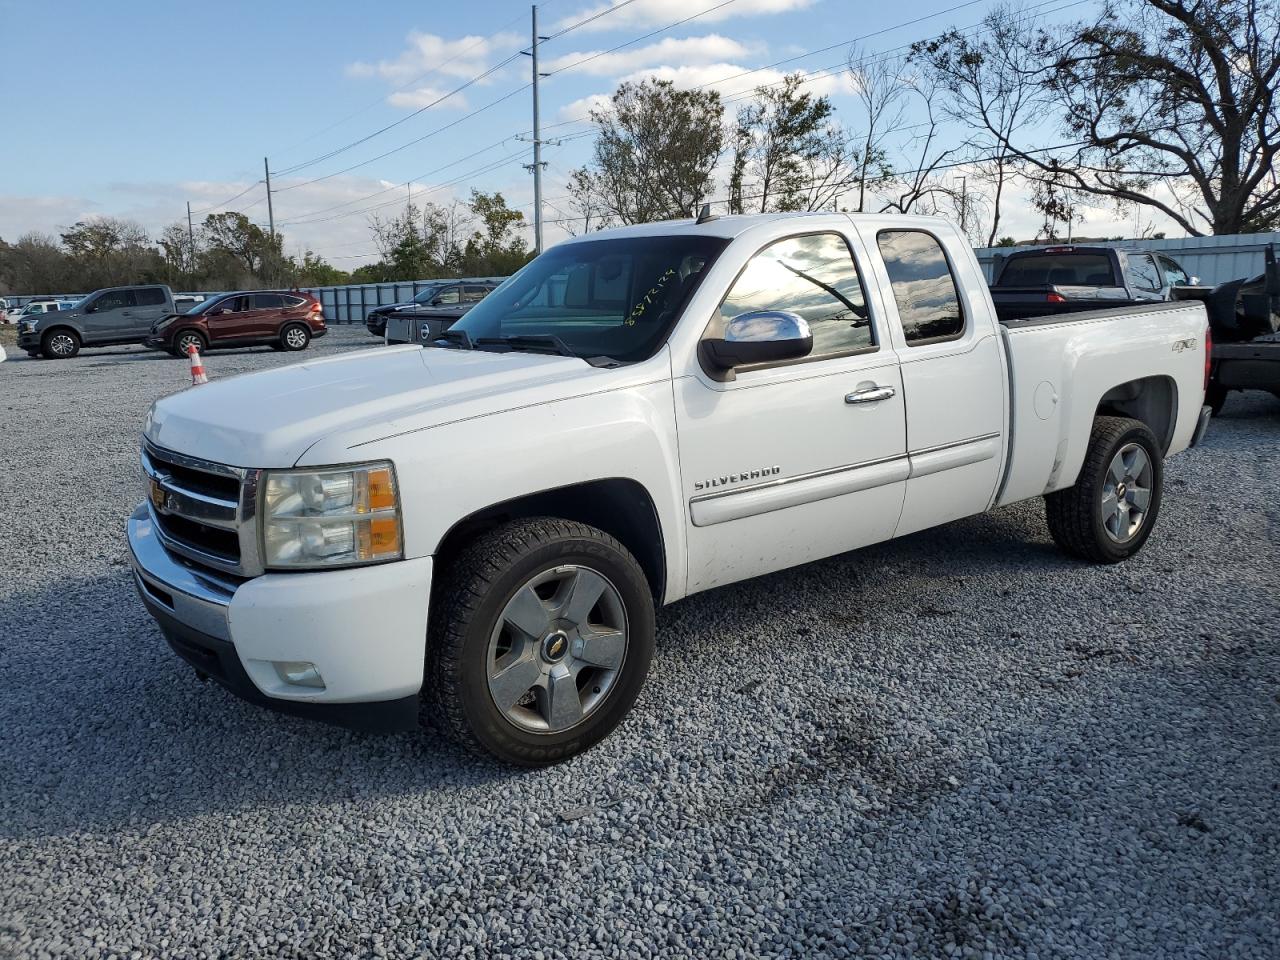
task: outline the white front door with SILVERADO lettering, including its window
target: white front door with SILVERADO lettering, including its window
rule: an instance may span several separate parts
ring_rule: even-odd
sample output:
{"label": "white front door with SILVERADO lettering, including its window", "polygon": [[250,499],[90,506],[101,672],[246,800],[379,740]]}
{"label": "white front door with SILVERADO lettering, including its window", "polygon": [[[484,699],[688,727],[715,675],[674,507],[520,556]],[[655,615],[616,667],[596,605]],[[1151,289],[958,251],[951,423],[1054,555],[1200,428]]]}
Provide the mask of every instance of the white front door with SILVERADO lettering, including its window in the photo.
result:
{"label": "white front door with SILVERADO lettering, including its window", "polygon": [[860,260],[851,229],[765,246],[705,335],[785,310],[808,321],[810,356],[727,383],[701,370],[676,379],[689,593],[893,535],[909,470],[902,381]]}

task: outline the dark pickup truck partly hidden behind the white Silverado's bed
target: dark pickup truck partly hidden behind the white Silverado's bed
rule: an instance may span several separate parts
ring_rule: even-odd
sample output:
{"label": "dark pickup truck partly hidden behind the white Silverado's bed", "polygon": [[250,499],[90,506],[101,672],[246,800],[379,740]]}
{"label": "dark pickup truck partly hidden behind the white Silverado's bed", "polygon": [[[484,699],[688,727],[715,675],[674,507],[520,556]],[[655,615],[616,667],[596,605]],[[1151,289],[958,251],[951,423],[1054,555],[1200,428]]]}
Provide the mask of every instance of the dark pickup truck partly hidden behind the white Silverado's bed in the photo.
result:
{"label": "dark pickup truck partly hidden behind the white Silverado's bed", "polygon": [[1046,247],[997,260],[991,298],[1001,320],[1172,300],[1197,278],[1165,255],[1111,247]]}

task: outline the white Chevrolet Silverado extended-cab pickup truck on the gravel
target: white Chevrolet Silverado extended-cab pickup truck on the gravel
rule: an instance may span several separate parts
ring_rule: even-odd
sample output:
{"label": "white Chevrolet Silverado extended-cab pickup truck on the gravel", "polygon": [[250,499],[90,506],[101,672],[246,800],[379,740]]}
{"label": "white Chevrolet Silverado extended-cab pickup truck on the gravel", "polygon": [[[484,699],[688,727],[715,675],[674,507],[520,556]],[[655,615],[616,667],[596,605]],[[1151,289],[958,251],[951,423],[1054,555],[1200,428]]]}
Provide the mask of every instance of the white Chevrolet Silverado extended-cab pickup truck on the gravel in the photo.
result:
{"label": "white Chevrolet Silverado extended-cab pickup truck on the gravel", "polygon": [[932,218],[579,237],[445,335],[152,407],[133,568],[200,675],[552,763],[626,716],[658,604],[1032,497],[1121,561],[1208,422],[1202,303],[1001,324]]}

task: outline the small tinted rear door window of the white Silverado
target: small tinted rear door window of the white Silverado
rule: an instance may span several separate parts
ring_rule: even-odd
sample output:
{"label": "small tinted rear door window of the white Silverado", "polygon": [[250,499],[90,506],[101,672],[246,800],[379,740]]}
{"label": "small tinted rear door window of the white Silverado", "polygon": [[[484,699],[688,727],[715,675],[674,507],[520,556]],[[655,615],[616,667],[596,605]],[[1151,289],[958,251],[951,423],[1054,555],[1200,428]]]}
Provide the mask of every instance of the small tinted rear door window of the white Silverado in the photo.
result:
{"label": "small tinted rear door window of the white Silverado", "polygon": [[942,244],[923,230],[884,230],[877,238],[909,347],[964,333],[964,308]]}

